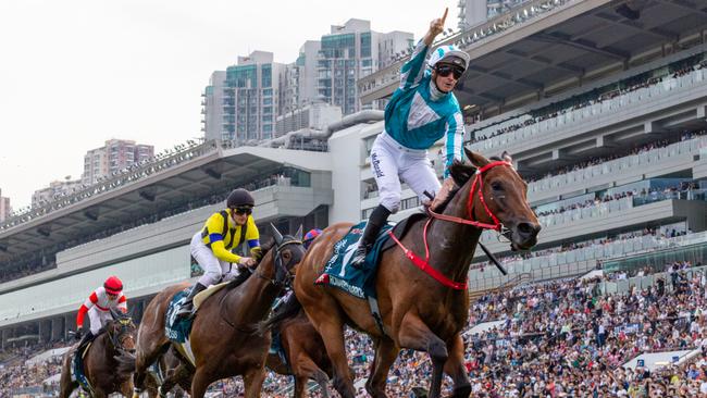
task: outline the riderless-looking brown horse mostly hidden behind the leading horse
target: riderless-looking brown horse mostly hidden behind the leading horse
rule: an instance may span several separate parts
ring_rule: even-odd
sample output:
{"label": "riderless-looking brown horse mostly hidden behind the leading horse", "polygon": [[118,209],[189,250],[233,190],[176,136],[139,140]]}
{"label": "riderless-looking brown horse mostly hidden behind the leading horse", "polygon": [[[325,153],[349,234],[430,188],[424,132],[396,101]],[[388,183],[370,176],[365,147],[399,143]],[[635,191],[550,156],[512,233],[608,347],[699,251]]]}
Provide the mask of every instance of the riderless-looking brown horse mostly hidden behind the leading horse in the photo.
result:
{"label": "riderless-looking brown horse mostly hidden behind the leading horse", "polygon": [[266,365],[273,372],[295,377],[295,397],[307,396],[307,383],[311,378],[319,384],[322,397],[328,398],[328,380],[332,362],[326,356],[322,336],[307,318],[296,300],[286,301],[261,326],[280,335],[287,363],[277,353],[268,356]]}

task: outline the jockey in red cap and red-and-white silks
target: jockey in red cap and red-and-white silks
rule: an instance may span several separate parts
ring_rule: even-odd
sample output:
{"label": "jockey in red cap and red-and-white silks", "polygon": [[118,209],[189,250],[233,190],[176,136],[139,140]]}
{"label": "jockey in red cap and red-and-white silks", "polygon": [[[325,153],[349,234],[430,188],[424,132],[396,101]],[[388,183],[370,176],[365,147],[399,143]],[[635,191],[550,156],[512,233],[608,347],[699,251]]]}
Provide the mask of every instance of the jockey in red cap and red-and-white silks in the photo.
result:
{"label": "jockey in red cap and red-and-white silks", "polygon": [[127,312],[127,299],[123,295],[123,282],[117,276],[110,276],[103,286],[94,290],[86,301],[78,309],[76,314],[76,339],[82,338],[80,328],[84,326],[84,319],[88,314],[90,321],[89,331],[82,339],[82,344],[90,341],[98,336],[106,322],[111,319],[111,310]]}

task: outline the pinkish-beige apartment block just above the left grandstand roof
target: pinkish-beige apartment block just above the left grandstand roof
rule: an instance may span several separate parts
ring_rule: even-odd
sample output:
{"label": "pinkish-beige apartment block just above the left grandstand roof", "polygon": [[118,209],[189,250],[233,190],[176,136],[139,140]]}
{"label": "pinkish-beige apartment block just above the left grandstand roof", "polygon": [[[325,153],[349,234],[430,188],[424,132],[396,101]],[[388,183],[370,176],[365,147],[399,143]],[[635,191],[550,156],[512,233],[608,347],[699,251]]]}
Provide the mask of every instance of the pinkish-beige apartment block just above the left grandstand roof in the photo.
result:
{"label": "pinkish-beige apartment block just above the left grandstand roof", "polygon": [[91,149],[84,157],[82,183],[89,185],[154,156],[151,145],[125,139],[109,139],[106,146]]}

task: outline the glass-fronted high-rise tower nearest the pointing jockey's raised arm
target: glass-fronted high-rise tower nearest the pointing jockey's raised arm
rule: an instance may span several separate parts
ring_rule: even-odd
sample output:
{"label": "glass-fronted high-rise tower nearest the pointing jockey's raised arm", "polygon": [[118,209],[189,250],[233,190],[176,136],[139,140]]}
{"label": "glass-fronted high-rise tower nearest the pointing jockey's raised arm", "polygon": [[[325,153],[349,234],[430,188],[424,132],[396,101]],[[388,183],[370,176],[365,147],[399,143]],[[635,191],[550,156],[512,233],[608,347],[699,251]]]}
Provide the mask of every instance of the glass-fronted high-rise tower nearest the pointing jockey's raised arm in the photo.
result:
{"label": "glass-fronted high-rise tower nearest the pointing jockey's raised arm", "polygon": [[[331,33],[322,36],[321,40],[319,98],[340,107],[344,114],[360,111],[362,108],[356,82],[393,62],[396,52],[400,52],[396,49],[411,47],[412,34],[380,34],[371,30],[369,21],[349,20],[342,26],[332,26]],[[371,107],[375,104],[367,108]]]}

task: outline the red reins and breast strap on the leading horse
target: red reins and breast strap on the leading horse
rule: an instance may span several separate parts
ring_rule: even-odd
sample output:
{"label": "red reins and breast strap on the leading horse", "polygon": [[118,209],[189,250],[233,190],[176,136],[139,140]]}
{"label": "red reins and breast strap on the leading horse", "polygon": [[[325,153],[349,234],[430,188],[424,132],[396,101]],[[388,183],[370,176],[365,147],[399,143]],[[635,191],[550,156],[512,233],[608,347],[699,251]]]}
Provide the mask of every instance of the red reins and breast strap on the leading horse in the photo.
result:
{"label": "red reins and breast strap on the leading horse", "polygon": [[[432,276],[435,281],[439,282],[442,285],[446,287],[449,287],[455,290],[466,290],[468,287],[468,277],[464,277],[463,283],[455,282],[446,277],[442,272],[439,272],[434,266],[430,265],[430,245],[427,244],[427,227],[430,226],[432,219],[438,219],[438,220],[449,221],[457,224],[472,225],[481,229],[493,229],[493,231],[500,232],[503,225],[498,221],[496,215],[494,215],[494,213],[491,211],[491,209],[488,209],[488,206],[486,204],[486,200],[484,199],[484,195],[482,192],[483,191],[482,174],[487,170],[500,165],[511,166],[511,164],[508,162],[496,161],[496,162],[491,162],[484,165],[483,167],[476,169],[476,172],[474,173],[474,181],[471,183],[471,189],[469,190],[469,200],[467,201],[467,212],[469,214],[469,220],[457,217],[454,215],[436,213],[431,208],[427,208],[427,213],[430,214],[430,217],[425,222],[424,228],[422,229],[422,239],[424,241],[424,260],[420,256],[418,256],[414,251],[405,247],[405,245],[402,245],[402,242],[393,234],[393,231],[388,231],[388,235],[390,236],[390,238],[400,247],[400,249],[402,249],[405,257],[407,257],[412,262],[412,264],[414,264],[417,268],[419,268],[424,273]],[[486,214],[488,214],[488,216],[491,216],[491,219],[494,221],[494,224],[482,223],[480,221],[474,220],[473,202],[474,202],[475,192],[479,192],[479,200],[484,206],[484,210],[486,210]]]}

